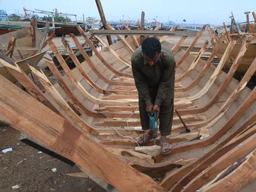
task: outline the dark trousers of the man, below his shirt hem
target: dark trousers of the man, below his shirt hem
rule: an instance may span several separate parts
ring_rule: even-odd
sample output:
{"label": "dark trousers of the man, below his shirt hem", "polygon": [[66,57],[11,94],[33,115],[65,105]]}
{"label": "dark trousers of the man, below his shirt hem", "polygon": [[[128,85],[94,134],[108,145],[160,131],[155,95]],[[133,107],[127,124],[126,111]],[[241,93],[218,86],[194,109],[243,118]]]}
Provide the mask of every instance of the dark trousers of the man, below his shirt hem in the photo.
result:
{"label": "dark trousers of the man, below his shirt hem", "polygon": [[[154,105],[154,100],[152,101]],[[140,108],[140,123],[143,130],[149,129],[149,117],[146,112],[146,103],[139,97],[139,108]],[[174,113],[174,101],[173,99],[166,98],[160,106],[160,126],[159,131],[162,136],[170,135],[172,130],[172,119]]]}

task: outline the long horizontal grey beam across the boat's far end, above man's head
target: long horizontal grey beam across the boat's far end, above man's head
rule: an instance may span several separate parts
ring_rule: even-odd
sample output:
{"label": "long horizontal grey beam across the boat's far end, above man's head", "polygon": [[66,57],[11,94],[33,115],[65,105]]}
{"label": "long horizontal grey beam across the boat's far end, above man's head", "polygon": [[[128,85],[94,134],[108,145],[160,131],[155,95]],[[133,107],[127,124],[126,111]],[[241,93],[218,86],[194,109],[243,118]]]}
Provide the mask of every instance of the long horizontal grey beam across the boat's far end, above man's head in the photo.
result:
{"label": "long horizontal grey beam across the boat's far end, above man's head", "polygon": [[[108,24],[107,24],[108,26]],[[109,25],[110,26],[110,25]],[[151,31],[151,30],[140,30],[140,31],[136,31],[136,30],[112,30],[112,28],[110,28],[108,26],[109,30],[96,30],[96,29],[91,29],[90,33],[92,33],[93,35],[116,35],[116,36],[120,36],[120,35],[159,35],[159,36],[170,36],[170,35],[175,35],[175,31]],[[113,28],[114,29],[114,28]]]}

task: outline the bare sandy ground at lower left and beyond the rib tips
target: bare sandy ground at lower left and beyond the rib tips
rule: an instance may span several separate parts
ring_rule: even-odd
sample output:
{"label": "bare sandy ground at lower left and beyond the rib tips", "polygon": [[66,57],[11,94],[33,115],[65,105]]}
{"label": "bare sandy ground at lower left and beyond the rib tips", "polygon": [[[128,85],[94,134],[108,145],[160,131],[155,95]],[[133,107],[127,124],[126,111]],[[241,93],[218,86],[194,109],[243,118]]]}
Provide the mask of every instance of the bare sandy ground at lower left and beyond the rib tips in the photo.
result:
{"label": "bare sandy ground at lower left and beyond the rib tips", "polygon": [[[209,40],[209,33],[203,33],[197,46],[202,46],[205,40]],[[170,36],[166,41],[176,44],[178,40],[186,35],[179,33]],[[190,45],[195,34],[189,35],[182,45]],[[83,41],[83,38],[77,36]],[[114,37],[113,37],[114,38]],[[70,45],[74,45],[71,37],[66,37]],[[105,39],[106,40],[106,39]],[[57,47],[61,47],[61,38],[53,39]],[[45,67],[42,61],[39,66]],[[78,179],[66,175],[67,173],[80,172],[76,166],[70,166],[44,153],[25,145],[19,141],[20,133],[11,127],[0,127],[0,149],[12,147],[13,151],[3,153],[0,151],[0,191],[105,191],[90,179]],[[56,168],[57,172],[51,171]],[[19,185],[19,189],[11,187]]]}

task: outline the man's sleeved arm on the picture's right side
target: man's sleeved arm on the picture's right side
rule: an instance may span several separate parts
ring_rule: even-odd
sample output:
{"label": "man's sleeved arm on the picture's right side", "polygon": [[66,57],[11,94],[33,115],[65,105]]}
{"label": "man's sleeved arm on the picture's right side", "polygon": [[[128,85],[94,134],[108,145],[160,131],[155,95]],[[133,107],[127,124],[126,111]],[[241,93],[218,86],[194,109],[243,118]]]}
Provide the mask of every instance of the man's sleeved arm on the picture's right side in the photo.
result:
{"label": "man's sleeved arm on the picture's right side", "polygon": [[160,106],[162,104],[162,101],[164,101],[167,90],[170,87],[173,87],[174,89],[175,67],[176,67],[174,57],[168,57],[168,59],[164,61],[164,66],[166,67],[162,73],[162,79],[158,87],[156,101],[154,102],[154,105],[158,105],[158,106]]}

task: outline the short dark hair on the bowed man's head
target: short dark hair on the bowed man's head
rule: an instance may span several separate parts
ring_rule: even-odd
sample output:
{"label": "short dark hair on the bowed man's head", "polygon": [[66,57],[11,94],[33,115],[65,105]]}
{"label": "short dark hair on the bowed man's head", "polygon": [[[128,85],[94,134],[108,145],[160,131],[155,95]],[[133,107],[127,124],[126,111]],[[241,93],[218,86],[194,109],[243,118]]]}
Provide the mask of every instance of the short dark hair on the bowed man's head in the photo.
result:
{"label": "short dark hair on the bowed man's head", "polygon": [[156,57],[156,53],[160,53],[161,43],[154,37],[148,37],[142,42],[142,53],[148,57]]}

